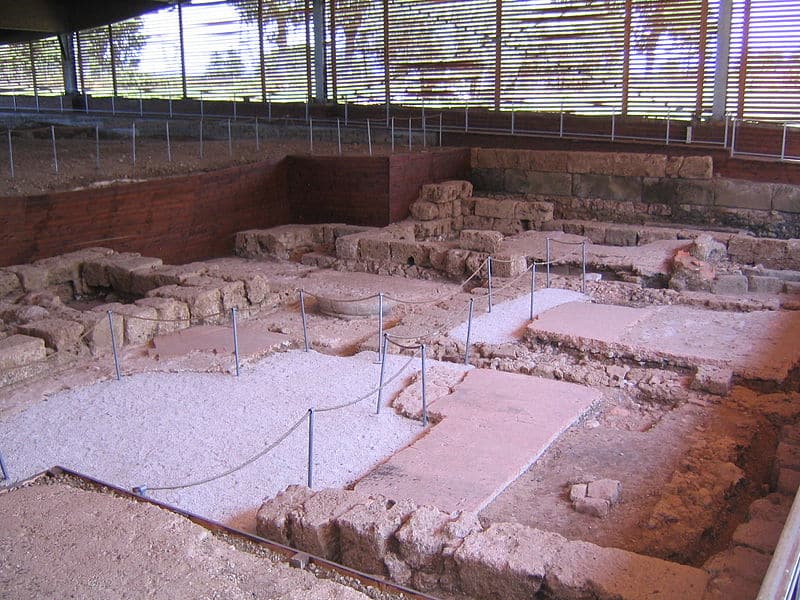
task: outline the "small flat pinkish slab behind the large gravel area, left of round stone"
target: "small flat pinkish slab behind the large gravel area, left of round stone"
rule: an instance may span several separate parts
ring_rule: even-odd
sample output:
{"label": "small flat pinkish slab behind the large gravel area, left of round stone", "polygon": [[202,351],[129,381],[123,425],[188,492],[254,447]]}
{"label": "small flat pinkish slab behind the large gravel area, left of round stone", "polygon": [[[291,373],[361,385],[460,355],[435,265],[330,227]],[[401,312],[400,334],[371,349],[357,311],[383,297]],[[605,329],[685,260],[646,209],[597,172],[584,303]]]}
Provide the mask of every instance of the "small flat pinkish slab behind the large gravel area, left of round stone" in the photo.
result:
{"label": "small flat pinkish slab behind the large gravel area, left of round stone", "polygon": [[[256,322],[239,323],[239,354],[261,354],[288,346],[290,338],[281,333],[266,331]],[[175,333],[153,338],[153,348],[148,353],[161,358],[183,356],[189,352],[233,354],[233,329],[224,325],[198,325]]]}

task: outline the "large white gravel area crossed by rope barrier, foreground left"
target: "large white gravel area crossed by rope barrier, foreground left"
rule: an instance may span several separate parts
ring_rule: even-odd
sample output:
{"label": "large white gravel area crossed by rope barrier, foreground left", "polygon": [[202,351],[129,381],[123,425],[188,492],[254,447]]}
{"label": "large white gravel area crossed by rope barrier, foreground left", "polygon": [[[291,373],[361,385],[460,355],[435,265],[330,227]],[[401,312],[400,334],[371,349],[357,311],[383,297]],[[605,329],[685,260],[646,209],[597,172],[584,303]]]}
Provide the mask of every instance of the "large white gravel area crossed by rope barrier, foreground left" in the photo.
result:
{"label": "large white gravel area crossed by rope barrier, foreground left", "polygon": [[[406,362],[389,356],[387,379]],[[431,361],[433,363],[435,361]],[[419,369],[414,361],[384,393],[393,397]],[[0,450],[13,480],[54,465],[123,488],[175,485],[223,472],[276,440],[310,407],[354,400],[377,386],[380,365],[365,352],[341,358],[292,351],[245,367],[239,378],[149,373],[51,396],[2,423]],[[315,413],[314,487],[343,486],[422,433],[418,421],[385,408],[376,394]],[[307,419],[283,443],[208,484],[148,494],[251,529],[266,497],[306,483]]]}

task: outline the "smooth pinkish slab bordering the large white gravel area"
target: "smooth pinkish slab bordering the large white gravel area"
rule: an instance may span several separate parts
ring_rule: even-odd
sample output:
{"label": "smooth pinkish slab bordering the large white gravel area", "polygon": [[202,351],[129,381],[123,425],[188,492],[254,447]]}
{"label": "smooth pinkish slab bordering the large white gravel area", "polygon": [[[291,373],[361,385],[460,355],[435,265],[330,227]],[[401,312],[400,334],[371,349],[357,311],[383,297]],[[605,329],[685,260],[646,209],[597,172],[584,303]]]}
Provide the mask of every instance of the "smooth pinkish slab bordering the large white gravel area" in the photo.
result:
{"label": "smooth pinkish slab bordering the large white gravel area", "polygon": [[479,511],[599,398],[571,383],[475,369],[432,403],[442,421],[355,489],[447,512]]}

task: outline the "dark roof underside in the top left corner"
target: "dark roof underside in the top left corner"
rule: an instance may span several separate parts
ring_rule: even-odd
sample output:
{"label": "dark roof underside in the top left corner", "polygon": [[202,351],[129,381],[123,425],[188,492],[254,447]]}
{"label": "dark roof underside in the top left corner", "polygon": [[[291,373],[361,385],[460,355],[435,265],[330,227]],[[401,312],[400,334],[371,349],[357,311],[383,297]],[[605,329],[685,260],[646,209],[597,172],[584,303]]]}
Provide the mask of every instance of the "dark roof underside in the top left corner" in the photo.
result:
{"label": "dark roof underside in the top left corner", "polygon": [[99,27],[175,3],[175,0],[0,0],[0,43]]}

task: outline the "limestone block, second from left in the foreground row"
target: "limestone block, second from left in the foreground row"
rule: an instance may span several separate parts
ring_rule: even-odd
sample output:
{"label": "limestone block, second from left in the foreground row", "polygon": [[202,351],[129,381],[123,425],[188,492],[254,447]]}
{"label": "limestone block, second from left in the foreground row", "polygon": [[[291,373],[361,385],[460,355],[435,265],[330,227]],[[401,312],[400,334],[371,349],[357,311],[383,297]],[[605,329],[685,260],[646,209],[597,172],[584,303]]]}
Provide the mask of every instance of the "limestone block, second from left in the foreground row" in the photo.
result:
{"label": "limestone block, second from left in the foreground row", "polygon": [[350,490],[317,492],[289,513],[290,539],[294,547],[328,560],[338,560],[341,552],[336,519],[363,501],[361,495]]}

